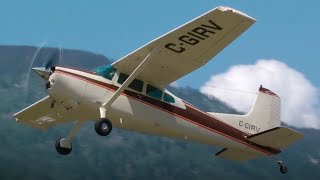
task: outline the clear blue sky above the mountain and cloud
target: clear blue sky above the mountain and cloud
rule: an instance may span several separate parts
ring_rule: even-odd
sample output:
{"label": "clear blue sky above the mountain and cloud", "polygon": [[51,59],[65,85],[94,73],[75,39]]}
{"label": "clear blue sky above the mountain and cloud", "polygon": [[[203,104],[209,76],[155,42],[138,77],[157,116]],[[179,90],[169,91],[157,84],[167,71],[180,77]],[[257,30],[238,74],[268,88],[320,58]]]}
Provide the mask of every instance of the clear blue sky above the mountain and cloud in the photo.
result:
{"label": "clear blue sky above the mountain and cloud", "polygon": [[258,22],[208,65],[179,80],[180,85],[199,88],[230,66],[277,59],[320,87],[318,1],[1,0],[0,44],[49,41],[117,60],[219,5],[243,11]]}

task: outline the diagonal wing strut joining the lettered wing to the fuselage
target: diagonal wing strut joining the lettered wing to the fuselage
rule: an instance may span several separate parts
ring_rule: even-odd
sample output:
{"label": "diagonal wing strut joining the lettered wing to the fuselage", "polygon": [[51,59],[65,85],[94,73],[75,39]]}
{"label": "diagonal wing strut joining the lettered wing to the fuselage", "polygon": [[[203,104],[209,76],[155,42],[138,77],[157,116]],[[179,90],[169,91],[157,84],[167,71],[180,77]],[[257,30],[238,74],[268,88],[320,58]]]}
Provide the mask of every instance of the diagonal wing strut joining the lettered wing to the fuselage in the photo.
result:
{"label": "diagonal wing strut joining the lettered wing to the fuselage", "polygon": [[118,90],[111,96],[111,98],[100,107],[100,115],[101,118],[106,117],[107,109],[112,105],[112,103],[120,96],[120,94],[129,86],[129,84],[136,78],[139,73],[146,67],[146,65],[152,59],[151,56],[155,51],[151,50],[151,52],[141,61],[141,63],[136,67],[136,69],[131,73],[131,75],[124,81],[124,83],[118,88]]}

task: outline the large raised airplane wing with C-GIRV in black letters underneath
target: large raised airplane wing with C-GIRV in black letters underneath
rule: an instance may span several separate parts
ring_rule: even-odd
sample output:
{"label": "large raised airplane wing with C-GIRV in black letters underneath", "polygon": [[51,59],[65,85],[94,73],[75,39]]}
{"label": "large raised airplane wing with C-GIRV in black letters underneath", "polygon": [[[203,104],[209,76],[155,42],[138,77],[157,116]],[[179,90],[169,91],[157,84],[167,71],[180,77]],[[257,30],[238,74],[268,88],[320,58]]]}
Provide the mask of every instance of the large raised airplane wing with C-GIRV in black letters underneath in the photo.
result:
{"label": "large raised airplane wing with C-GIRV in black letters underneath", "polygon": [[165,87],[209,62],[254,22],[237,10],[218,7],[149,42],[112,66],[131,74],[152,50],[156,50],[137,78]]}

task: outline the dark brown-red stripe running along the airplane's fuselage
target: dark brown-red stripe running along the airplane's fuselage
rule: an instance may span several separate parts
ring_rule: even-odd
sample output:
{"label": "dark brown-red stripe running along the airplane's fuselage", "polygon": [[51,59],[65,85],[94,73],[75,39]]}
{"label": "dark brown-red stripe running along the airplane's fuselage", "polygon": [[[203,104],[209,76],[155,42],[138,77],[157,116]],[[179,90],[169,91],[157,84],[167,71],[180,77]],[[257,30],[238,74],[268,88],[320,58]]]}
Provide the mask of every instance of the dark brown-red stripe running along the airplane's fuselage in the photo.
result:
{"label": "dark brown-red stripe running along the airplane's fuselage", "polygon": [[[77,71],[81,71],[81,70],[77,70]],[[95,79],[92,79],[92,78],[89,78],[86,76],[82,76],[79,74],[71,73],[68,71],[63,71],[61,69],[56,69],[55,72],[58,72],[58,73],[61,72],[63,74],[71,75],[71,76],[76,77],[78,79],[82,79],[86,82],[98,85],[103,88],[107,88],[112,91],[116,91],[119,88],[117,86],[114,86],[114,85],[111,85],[108,83],[104,83],[104,82],[101,82],[101,81],[98,81],[98,80],[95,80]],[[84,72],[84,71],[82,71],[82,72]],[[84,72],[84,73],[87,73],[87,72]],[[93,73],[89,73],[89,74],[92,75]],[[99,76],[99,75],[96,75],[96,76]],[[252,148],[254,148],[258,151],[261,151],[267,155],[278,154],[281,152],[278,149],[264,147],[264,146],[261,146],[261,145],[258,145],[258,144],[255,144],[255,143],[248,141],[245,137],[250,136],[249,134],[242,132],[232,126],[229,126],[229,125],[215,119],[214,117],[210,116],[206,112],[203,112],[203,111],[197,109],[196,107],[189,105],[189,103],[184,102],[186,105],[186,109],[181,109],[181,108],[173,106],[169,103],[166,103],[166,102],[163,102],[160,100],[156,100],[156,99],[153,99],[153,98],[148,97],[146,95],[135,93],[132,91],[125,90],[122,94],[129,96],[130,98],[133,98],[135,100],[138,100],[144,104],[151,105],[155,108],[158,108],[160,110],[163,110],[165,112],[173,114],[174,116],[178,116],[179,118],[182,118],[182,119],[187,120],[191,123],[197,124],[197,125],[199,125],[203,128],[206,128],[210,131],[214,131],[215,133],[223,135],[229,139],[233,139],[233,140],[240,142],[246,146],[252,147]]]}

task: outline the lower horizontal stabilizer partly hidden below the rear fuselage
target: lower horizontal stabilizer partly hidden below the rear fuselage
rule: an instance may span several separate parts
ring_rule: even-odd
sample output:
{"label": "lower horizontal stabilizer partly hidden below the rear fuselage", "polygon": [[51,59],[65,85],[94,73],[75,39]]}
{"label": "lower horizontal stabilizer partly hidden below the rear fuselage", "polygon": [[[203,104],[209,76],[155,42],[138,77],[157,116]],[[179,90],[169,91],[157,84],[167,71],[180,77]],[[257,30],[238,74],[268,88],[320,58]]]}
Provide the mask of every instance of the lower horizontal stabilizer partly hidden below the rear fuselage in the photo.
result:
{"label": "lower horizontal stabilizer partly hidden below the rear fuselage", "polygon": [[261,155],[240,149],[224,148],[221,151],[217,152],[216,156],[232,161],[248,161],[251,159],[255,159]]}

